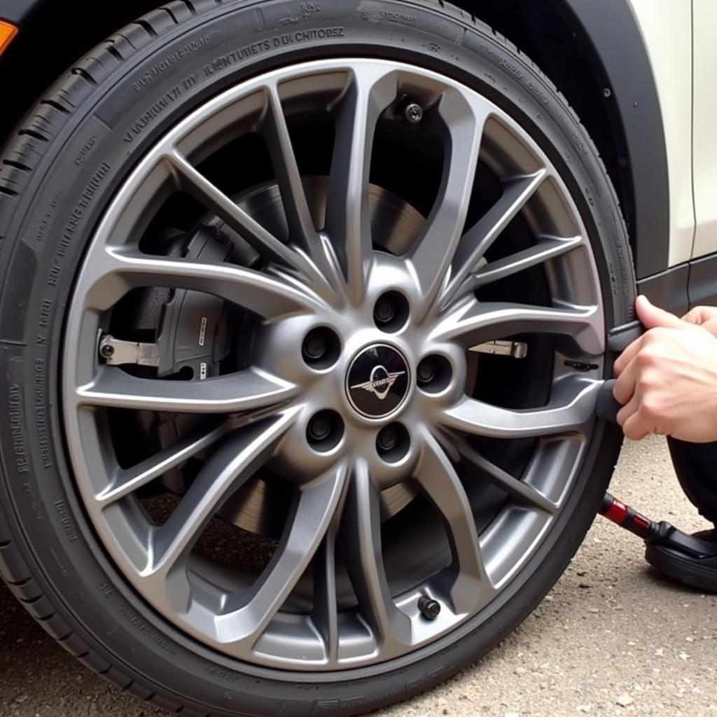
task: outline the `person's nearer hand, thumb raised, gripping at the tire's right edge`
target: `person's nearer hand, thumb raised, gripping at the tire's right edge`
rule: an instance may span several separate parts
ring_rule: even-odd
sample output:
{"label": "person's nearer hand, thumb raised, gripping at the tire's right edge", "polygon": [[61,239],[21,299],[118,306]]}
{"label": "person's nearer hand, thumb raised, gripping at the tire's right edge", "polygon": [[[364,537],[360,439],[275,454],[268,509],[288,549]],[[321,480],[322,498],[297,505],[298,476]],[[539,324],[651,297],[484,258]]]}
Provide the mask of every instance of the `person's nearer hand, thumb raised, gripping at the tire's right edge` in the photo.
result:
{"label": "person's nearer hand, thumb raised, gripping at the tire's right edge", "polygon": [[[622,404],[617,422],[625,436],[650,433],[693,443],[717,440],[717,337],[641,296],[637,315],[647,328],[615,361],[613,394]],[[716,324],[717,326],[717,324]]]}

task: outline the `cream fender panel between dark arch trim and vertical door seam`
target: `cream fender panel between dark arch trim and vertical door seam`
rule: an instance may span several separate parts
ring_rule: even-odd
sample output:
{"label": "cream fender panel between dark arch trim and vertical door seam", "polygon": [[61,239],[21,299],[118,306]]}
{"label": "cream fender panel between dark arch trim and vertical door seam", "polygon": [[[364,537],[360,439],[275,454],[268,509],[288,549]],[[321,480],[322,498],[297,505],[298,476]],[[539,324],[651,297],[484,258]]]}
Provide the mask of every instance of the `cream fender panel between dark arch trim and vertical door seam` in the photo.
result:
{"label": "cream fender panel between dark arch trim and vertical door seam", "polygon": [[[630,0],[630,4],[650,55],[665,124],[670,174],[669,262],[673,266],[690,259],[695,236],[692,191],[692,4],[690,0]],[[711,15],[716,15],[717,0],[695,0],[695,6],[698,5],[711,7]],[[715,39],[712,38],[710,42],[713,57],[717,57]],[[713,88],[709,91],[714,92]],[[715,101],[713,98],[713,108]],[[712,174],[717,178],[716,173],[717,168],[712,168]],[[713,207],[712,215],[717,218],[717,206]]]}

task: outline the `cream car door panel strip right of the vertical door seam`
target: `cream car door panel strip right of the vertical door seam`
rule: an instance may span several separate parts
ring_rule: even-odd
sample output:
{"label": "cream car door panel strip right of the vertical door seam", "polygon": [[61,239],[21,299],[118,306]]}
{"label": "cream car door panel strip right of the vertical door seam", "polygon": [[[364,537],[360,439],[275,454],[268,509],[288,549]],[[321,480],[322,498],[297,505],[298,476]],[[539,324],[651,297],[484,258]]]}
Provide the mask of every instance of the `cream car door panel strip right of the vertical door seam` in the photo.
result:
{"label": "cream car door panel strip right of the vertical door seam", "polygon": [[717,1],[694,0],[694,256],[717,252]]}

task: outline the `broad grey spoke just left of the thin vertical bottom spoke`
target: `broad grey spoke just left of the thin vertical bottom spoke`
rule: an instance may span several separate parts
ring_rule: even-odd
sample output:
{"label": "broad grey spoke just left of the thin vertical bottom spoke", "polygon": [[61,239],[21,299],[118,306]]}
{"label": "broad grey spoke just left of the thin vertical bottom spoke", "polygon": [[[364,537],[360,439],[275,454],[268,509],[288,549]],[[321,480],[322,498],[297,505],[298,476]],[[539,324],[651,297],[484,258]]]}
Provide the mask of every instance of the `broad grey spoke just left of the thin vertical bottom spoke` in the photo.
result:
{"label": "broad grey spoke just left of the thin vertical bottom spoke", "polygon": [[219,639],[250,648],[289,597],[331,526],[348,471],[341,463],[328,476],[300,491],[290,528],[247,601],[217,620]]}

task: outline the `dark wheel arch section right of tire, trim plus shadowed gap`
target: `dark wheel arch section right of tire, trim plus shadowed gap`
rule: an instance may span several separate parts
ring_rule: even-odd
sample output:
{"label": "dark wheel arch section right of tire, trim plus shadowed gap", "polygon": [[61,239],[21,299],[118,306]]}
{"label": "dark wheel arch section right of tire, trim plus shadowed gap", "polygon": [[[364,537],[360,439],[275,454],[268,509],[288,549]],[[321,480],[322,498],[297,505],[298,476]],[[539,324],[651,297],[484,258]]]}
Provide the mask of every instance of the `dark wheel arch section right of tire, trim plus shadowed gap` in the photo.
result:
{"label": "dark wheel arch section right of tire, trim plus shadowed gap", "polygon": [[607,167],[638,278],[668,268],[670,186],[650,58],[628,0],[452,0],[515,43],[579,115]]}

